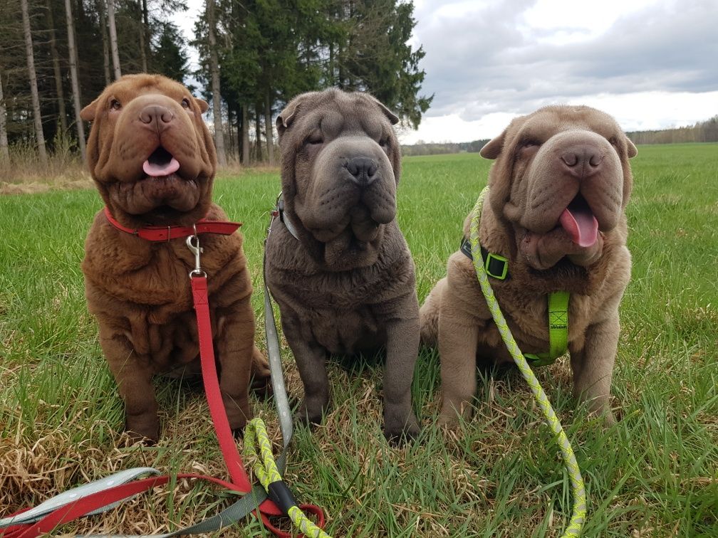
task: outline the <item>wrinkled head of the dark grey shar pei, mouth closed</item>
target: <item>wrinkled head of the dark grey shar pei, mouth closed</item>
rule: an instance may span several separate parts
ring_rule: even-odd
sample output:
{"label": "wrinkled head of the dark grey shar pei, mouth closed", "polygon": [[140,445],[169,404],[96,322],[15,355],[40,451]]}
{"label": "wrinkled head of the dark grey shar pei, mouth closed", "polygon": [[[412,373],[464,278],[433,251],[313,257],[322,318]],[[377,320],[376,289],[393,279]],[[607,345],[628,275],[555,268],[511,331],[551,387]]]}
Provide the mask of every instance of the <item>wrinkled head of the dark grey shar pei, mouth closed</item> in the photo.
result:
{"label": "wrinkled head of the dark grey shar pei, mouth closed", "polygon": [[371,242],[396,217],[398,118],[363,93],[294,98],[277,118],[282,190],[314,239]]}

